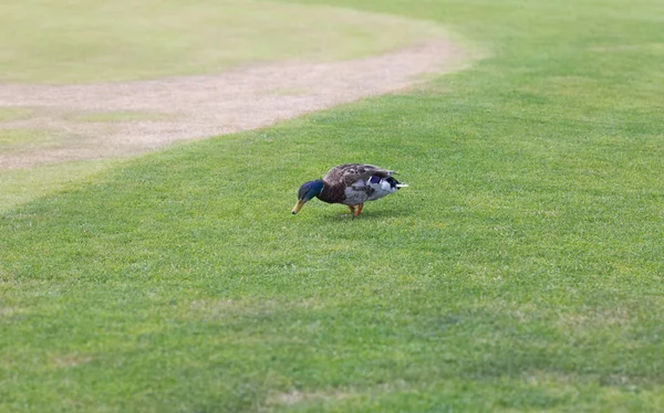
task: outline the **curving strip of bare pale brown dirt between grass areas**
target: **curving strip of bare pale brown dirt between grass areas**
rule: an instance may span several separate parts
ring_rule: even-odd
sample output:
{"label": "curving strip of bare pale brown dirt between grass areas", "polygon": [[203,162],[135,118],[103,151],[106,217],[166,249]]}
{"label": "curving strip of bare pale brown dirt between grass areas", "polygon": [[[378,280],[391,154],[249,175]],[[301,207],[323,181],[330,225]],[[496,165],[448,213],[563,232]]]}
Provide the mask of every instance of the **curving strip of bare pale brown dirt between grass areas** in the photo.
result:
{"label": "curving strip of bare pale brown dirt between grass areas", "polygon": [[[44,86],[0,84],[0,107],[31,115],[0,128],[48,130],[56,141],[0,153],[0,169],[141,153],[177,140],[253,129],[308,112],[413,85],[454,68],[460,51],[435,41],[386,55],[335,63],[276,63],[220,75]],[[147,114],[143,118],[127,113]],[[124,113],[112,121],[85,114]]]}

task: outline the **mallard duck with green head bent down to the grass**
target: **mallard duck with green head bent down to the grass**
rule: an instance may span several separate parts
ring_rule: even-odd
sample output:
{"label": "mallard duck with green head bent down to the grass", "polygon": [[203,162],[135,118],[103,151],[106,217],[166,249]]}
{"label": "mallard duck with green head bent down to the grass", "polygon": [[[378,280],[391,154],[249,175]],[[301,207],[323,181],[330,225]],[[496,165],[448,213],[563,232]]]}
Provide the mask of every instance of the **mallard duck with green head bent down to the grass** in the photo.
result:
{"label": "mallard duck with green head bent down to the grass", "polygon": [[394,173],[396,171],[366,163],[336,166],[323,179],[309,181],[300,187],[298,203],[292,213],[300,212],[315,197],[328,203],[343,203],[349,206],[351,214],[360,216],[364,202],[375,201],[407,187],[394,179]]}

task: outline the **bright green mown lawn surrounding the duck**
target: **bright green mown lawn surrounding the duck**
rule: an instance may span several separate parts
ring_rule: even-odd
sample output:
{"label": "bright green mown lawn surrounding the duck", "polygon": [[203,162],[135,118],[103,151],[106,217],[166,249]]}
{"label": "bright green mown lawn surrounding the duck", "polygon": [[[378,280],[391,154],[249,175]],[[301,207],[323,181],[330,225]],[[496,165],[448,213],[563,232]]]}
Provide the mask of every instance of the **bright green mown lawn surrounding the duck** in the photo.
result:
{"label": "bright green mown lawn surrounding the duck", "polygon": [[660,2],[351,3],[494,56],[4,212],[0,409],[664,410]]}

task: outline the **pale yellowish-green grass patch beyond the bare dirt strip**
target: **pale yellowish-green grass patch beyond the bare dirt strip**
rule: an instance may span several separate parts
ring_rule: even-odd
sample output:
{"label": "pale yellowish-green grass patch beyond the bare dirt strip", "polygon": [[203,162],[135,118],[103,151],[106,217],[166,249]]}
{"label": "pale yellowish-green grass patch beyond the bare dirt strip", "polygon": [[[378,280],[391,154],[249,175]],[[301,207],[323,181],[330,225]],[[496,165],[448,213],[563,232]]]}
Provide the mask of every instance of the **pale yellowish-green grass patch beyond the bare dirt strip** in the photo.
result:
{"label": "pale yellowish-green grass patch beyond the bare dirt strip", "polygon": [[282,59],[352,59],[442,33],[388,14],[250,0],[14,0],[2,11],[6,82],[127,81]]}

